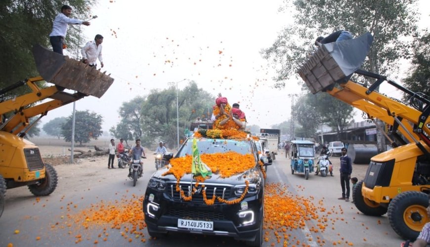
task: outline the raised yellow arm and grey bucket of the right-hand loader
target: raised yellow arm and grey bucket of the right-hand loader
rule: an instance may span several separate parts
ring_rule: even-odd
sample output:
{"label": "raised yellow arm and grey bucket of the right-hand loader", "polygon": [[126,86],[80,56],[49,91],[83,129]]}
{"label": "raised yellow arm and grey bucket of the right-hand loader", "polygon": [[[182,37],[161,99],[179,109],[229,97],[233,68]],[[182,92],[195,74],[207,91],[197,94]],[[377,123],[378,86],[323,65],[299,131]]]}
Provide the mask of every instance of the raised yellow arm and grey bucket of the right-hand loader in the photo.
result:
{"label": "raised yellow arm and grey bucket of the right-hand loader", "polygon": [[[398,129],[411,143],[415,143],[427,156],[429,152],[423,142],[430,146],[430,100],[427,95],[414,93],[386,77],[362,71],[373,37],[366,33],[359,38],[322,44],[299,69],[298,73],[312,93],[326,91],[330,95],[367,113],[370,119],[380,119]],[[350,80],[352,74],[375,80],[366,87]],[[391,99],[376,89],[382,82],[388,82],[419,102],[418,107],[406,105]],[[339,87],[335,87],[335,83]],[[423,142],[420,142],[420,141]]]}

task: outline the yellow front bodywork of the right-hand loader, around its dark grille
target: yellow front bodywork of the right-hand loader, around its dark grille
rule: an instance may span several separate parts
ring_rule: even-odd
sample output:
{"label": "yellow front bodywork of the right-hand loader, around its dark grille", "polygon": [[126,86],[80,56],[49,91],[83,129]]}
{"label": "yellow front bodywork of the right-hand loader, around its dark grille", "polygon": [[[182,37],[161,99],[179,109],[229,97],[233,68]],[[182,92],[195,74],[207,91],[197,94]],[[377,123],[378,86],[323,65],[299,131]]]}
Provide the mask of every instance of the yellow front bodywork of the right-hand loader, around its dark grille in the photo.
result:
{"label": "yellow front bodywork of the right-hand loader, around its dark grille", "polygon": [[[430,147],[421,141],[423,146],[430,151]],[[414,174],[417,157],[423,155],[423,152],[415,143],[403,145],[388,150],[372,157],[371,161],[384,163],[395,160],[394,168],[391,174],[389,186],[375,186],[373,189],[367,188],[363,182],[361,194],[375,203],[389,203],[398,194],[405,191],[421,191],[423,187],[429,188],[428,185],[412,185],[412,176]]]}

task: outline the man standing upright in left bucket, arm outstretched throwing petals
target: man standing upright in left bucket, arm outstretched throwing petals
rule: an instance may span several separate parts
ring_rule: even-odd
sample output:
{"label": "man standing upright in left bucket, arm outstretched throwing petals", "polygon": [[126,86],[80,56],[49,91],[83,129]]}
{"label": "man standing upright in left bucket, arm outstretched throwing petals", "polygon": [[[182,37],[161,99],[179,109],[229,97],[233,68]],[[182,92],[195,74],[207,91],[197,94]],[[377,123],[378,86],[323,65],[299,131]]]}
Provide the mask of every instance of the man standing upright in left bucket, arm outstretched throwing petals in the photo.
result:
{"label": "man standing upright in left bucket, arm outstretched throwing petals", "polygon": [[52,50],[56,53],[60,53],[63,55],[63,43],[67,34],[67,25],[68,24],[84,24],[89,26],[90,23],[87,21],[82,21],[78,19],[69,18],[72,14],[72,7],[69,5],[63,5],[61,7],[61,13],[59,13],[52,25],[52,32],[49,35],[49,41],[52,45]]}

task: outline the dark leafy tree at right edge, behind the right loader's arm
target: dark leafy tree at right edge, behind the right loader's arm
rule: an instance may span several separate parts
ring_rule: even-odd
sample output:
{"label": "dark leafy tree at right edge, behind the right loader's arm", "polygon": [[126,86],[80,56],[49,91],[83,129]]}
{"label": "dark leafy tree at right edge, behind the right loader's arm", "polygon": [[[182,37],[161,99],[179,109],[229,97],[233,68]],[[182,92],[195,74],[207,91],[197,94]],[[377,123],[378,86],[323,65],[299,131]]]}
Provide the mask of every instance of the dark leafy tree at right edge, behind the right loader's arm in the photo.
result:
{"label": "dark leafy tree at right edge, behind the right loader's arm", "polygon": [[[430,95],[430,33],[425,31],[421,37],[417,34],[412,45],[412,66],[409,75],[402,82],[413,92],[422,92]],[[410,95],[404,95],[406,101]]]}

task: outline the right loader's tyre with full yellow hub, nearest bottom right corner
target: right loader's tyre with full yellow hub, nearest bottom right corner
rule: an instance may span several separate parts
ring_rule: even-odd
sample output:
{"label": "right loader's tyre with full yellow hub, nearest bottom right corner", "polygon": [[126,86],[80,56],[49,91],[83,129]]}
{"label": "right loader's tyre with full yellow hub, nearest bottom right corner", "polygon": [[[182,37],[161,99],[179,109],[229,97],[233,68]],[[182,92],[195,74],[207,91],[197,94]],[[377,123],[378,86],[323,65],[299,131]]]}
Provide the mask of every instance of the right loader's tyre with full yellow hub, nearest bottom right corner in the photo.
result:
{"label": "right loader's tyre with full yellow hub, nearest bottom right corner", "polygon": [[418,191],[406,191],[397,195],[388,206],[391,228],[403,239],[415,241],[429,222],[427,215],[429,197]]}

